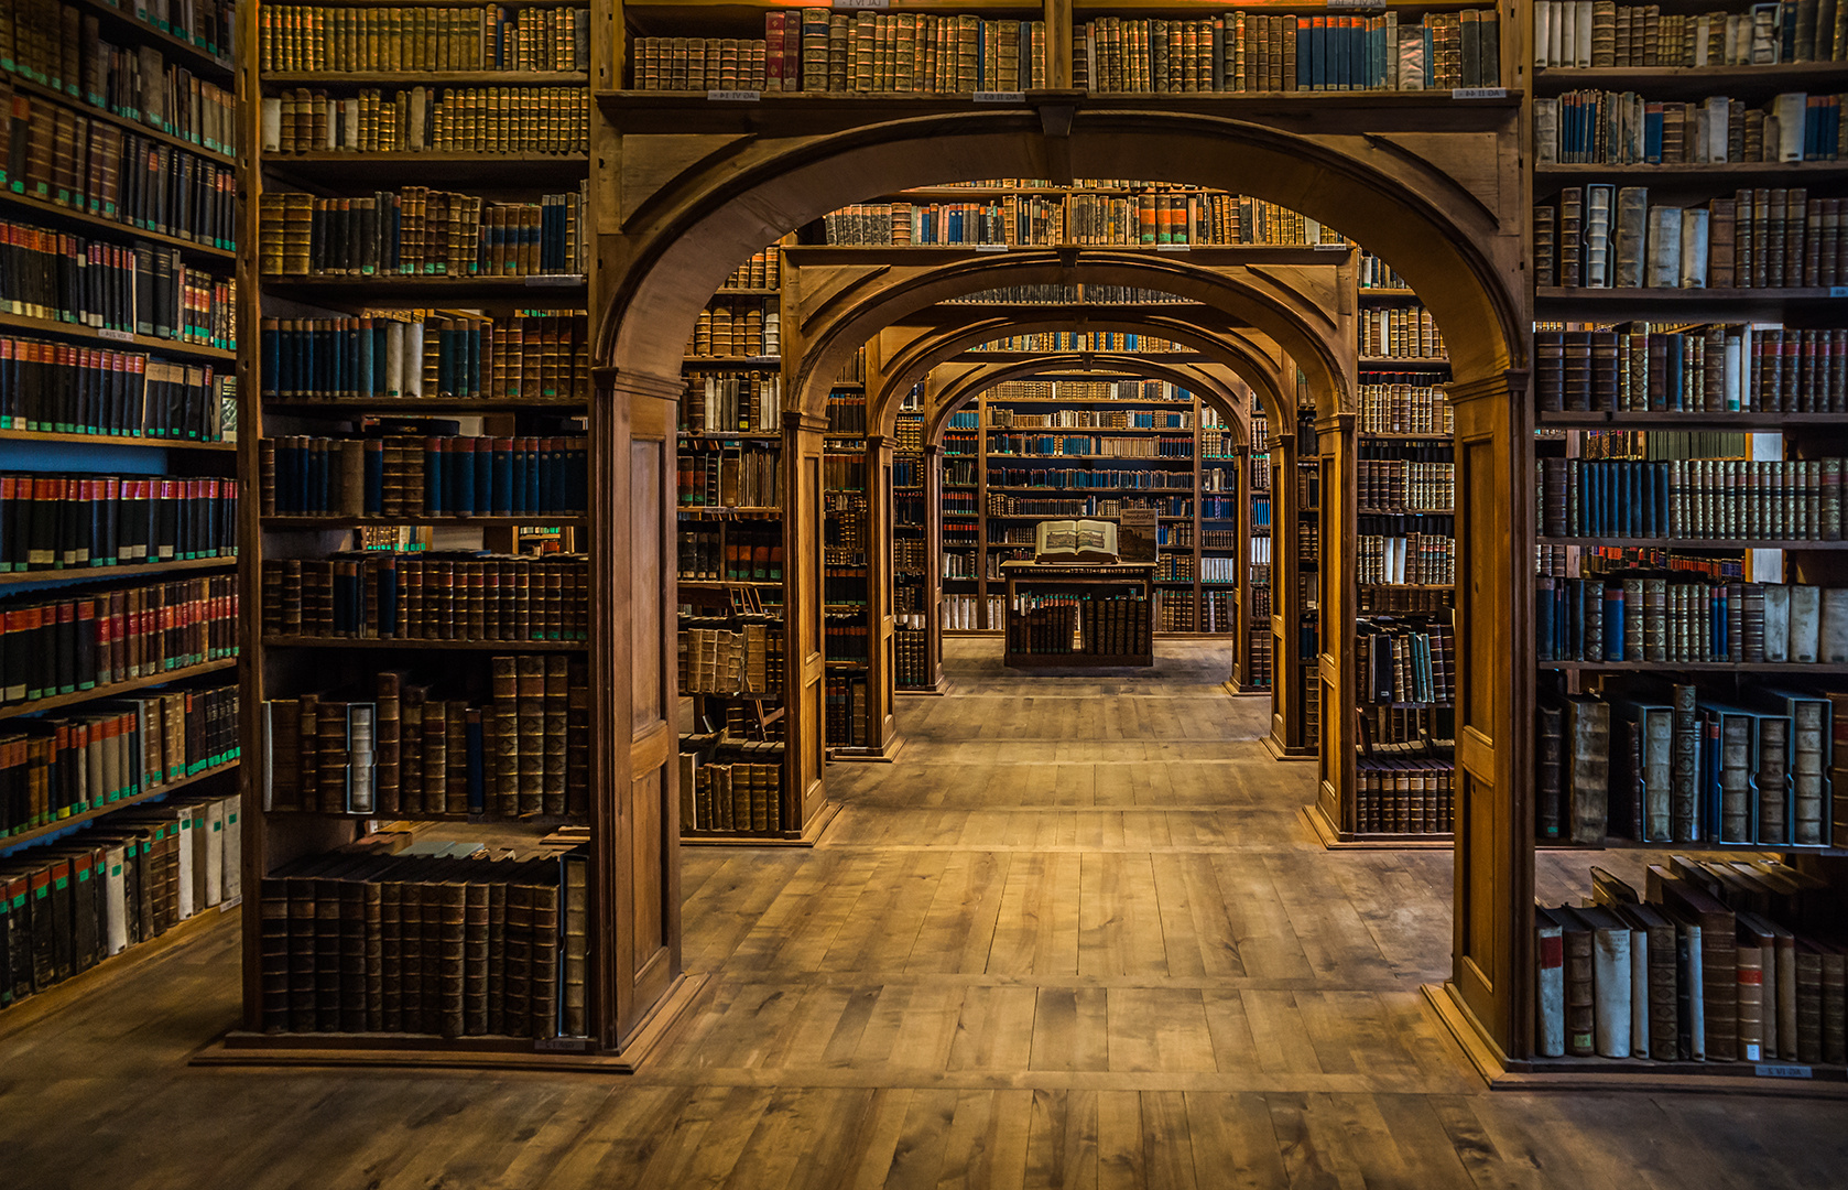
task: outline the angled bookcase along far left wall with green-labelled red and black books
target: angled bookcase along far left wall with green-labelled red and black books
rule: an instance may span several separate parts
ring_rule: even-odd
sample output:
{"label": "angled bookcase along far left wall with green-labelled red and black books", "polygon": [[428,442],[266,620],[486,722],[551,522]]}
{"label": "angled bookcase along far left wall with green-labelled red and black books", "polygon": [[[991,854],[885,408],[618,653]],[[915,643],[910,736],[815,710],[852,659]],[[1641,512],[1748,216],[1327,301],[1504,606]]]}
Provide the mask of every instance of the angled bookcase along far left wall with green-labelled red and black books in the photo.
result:
{"label": "angled bookcase along far left wall with green-labelled red and black books", "polygon": [[[0,689],[0,917],[26,957],[0,1013],[242,898],[231,41],[207,4],[31,18],[0,55],[0,612],[30,641]],[[133,78],[111,46],[140,48]]]}

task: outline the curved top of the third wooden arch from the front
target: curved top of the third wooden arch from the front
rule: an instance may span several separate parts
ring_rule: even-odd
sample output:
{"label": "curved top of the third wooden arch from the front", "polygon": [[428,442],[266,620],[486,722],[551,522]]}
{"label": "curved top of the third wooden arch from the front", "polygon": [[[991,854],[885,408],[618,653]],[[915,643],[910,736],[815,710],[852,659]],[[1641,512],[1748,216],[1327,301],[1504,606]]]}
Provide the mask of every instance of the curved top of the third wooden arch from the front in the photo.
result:
{"label": "curved top of the third wooden arch from the front", "polygon": [[[957,307],[946,307],[957,309]],[[978,307],[979,309],[979,307]],[[1220,364],[1244,381],[1264,405],[1271,421],[1284,425],[1295,419],[1295,382],[1284,381],[1284,364],[1275,344],[1262,336],[1244,334],[1242,329],[1205,331],[1183,316],[1183,307],[1175,314],[1133,314],[1124,318],[1083,318],[1076,322],[1061,310],[1048,307],[1016,307],[1007,310],[985,310],[985,318],[955,327],[933,327],[898,351],[887,351],[883,360],[885,377],[876,394],[867,394],[867,423],[878,432],[891,436],[898,419],[898,405],[931,370],[950,358],[968,351],[976,344],[985,344],[1011,334],[1037,334],[1040,331],[1114,331],[1135,334],[1159,334],[1166,340],[1194,347],[1207,360]],[[896,331],[896,329],[894,329]],[[891,331],[887,331],[891,334]],[[1092,358],[1103,353],[1064,353],[1079,358]],[[1114,353],[1125,355],[1125,353]],[[1127,353],[1140,360],[1144,357]],[[1162,357],[1148,357],[1164,362]],[[1234,421],[1244,427],[1246,410],[1234,414]]]}

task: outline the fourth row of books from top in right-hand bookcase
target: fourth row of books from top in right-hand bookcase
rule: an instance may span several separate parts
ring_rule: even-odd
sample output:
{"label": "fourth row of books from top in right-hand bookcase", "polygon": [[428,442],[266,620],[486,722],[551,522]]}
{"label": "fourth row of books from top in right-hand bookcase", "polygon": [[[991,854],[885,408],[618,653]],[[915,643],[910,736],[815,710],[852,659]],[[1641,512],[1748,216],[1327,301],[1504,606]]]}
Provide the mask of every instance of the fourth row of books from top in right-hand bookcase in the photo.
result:
{"label": "fourth row of books from top in right-hand bookcase", "polygon": [[1778,323],[1534,331],[1541,410],[1842,412],[1848,331]]}

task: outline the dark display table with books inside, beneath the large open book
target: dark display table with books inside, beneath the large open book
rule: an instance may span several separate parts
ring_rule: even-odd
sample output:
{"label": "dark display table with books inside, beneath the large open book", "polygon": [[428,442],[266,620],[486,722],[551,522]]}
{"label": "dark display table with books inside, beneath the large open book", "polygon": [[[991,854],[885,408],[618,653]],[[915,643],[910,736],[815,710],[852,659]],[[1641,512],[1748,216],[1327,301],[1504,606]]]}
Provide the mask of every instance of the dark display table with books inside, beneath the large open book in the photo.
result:
{"label": "dark display table with books inside, beneath the large open book", "polygon": [[1155,663],[1155,564],[1003,562],[1013,669]]}

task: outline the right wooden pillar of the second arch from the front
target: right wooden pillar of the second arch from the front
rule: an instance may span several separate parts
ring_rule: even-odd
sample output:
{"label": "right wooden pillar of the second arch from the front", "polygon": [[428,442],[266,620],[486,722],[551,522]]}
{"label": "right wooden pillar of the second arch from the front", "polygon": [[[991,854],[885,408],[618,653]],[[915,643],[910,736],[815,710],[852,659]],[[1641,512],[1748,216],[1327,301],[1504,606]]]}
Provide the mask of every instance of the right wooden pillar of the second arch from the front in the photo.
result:
{"label": "right wooden pillar of the second arch from the front", "polygon": [[1321,455],[1321,780],[1316,796],[1329,820],[1353,830],[1342,808],[1353,808],[1355,782],[1355,525],[1356,525],[1356,414],[1327,414],[1316,421]]}

